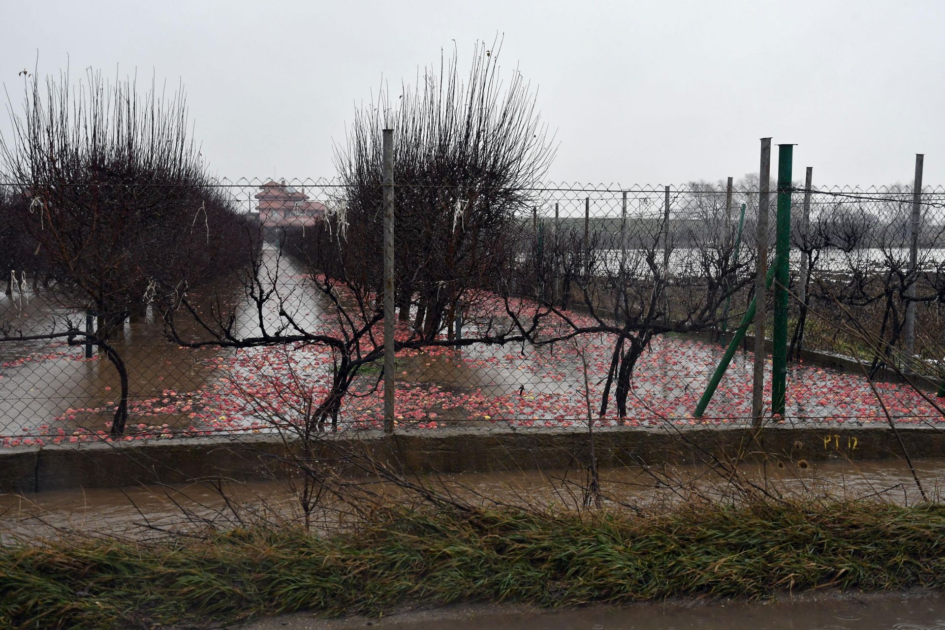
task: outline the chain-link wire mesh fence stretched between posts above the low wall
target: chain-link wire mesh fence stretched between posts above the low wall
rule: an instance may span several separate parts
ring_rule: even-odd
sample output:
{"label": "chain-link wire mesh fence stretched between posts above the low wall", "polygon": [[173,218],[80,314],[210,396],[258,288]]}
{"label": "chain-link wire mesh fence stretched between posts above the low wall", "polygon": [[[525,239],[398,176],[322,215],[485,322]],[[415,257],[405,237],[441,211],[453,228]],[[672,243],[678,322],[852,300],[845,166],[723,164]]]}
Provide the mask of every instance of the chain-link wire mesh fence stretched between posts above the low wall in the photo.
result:
{"label": "chain-link wire mesh fence stretched between posts above the low wall", "polygon": [[[0,195],[3,447],[384,428],[379,178]],[[395,431],[750,423],[757,190],[394,196]],[[796,185],[787,288],[767,422],[945,419],[945,190]]]}

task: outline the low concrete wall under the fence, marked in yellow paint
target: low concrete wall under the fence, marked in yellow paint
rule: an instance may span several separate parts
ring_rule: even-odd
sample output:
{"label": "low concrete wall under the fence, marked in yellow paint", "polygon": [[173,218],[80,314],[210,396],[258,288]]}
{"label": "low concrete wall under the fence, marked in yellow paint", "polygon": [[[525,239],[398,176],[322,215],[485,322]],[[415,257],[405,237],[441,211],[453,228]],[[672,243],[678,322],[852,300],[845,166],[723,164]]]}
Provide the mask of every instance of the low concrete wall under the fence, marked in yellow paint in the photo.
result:
{"label": "low concrete wall under the fence, marked in yellow paint", "polygon": [[[912,457],[945,456],[945,432],[899,431]],[[757,441],[747,429],[603,429],[594,433],[601,467],[646,463],[691,464],[765,452],[776,460],[884,459],[902,457],[888,428],[770,428]],[[254,436],[239,440],[171,439],[152,442],[15,448],[0,452],[0,492],[78,487],[176,484],[224,477],[266,480],[292,474],[299,445]],[[348,452],[369,455],[415,472],[485,472],[575,467],[587,462],[586,433],[443,430],[418,434],[370,434],[318,444],[311,457],[352,473]]]}

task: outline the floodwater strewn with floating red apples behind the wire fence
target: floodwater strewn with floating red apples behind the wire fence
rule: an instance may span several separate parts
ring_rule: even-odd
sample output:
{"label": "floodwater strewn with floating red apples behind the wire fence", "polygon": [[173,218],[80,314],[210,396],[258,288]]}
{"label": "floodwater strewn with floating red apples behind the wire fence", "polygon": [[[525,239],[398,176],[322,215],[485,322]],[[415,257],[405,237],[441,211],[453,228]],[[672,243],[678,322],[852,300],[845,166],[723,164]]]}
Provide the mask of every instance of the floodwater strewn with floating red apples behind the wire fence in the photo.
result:
{"label": "floodwater strewn with floating red apples behind the wire fence", "polygon": [[[303,269],[283,259],[278,274],[283,306],[297,321],[312,330],[337,332],[337,314],[330,300],[307,285]],[[221,285],[213,294],[226,310],[232,309],[236,331],[253,329],[258,314],[244,287]],[[209,295],[204,296],[208,303]],[[82,315],[62,309],[48,292],[0,300],[0,319],[12,322],[13,328],[49,330],[61,318]],[[527,308],[525,302],[521,304]],[[210,306],[205,304],[205,308]],[[278,304],[271,304],[264,313],[266,321],[275,321],[278,309]],[[504,313],[505,304],[497,298],[492,303],[484,299],[481,308],[467,318],[465,332],[473,335],[491,317],[501,321]],[[334,358],[326,349],[312,345],[184,349],[166,340],[162,323],[153,315],[150,311],[126,322],[111,341],[129,372],[128,433],[121,439],[265,432],[271,429],[272,417],[303,421],[306,403],[321,400],[329,390]],[[182,334],[200,332],[194,322],[179,325]],[[617,422],[613,388],[608,413],[596,418],[612,346],[613,340],[606,335],[583,335],[574,342],[542,348],[475,344],[461,350],[401,351],[395,368],[398,421],[401,428],[416,429],[456,423],[484,428],[508,424],[581,428],[590,398],[594,421],[613,425]],[[635,368],[627,424],[696,424],[691,414],[720,354],[710,343],[672,335],[656,337]],[[748,352],[736,355],[701,421],[731,424],[750,417],[751,362]],[[379,364],[365,366],[353,386],[357,396],[339,412],[339,428],[370,427],[383,417],[379,376]],[[865,378],[806,365],[792,366],[788,379],[786,422],[885,423],[877,393],[900,422],[945,419],[906,386],[876,383],[874,392]],[[118,397],[117,374],[104,355],[93,353],[86,358],[83,347],[64,342],[0,346],[2,446],[103,437]]]}

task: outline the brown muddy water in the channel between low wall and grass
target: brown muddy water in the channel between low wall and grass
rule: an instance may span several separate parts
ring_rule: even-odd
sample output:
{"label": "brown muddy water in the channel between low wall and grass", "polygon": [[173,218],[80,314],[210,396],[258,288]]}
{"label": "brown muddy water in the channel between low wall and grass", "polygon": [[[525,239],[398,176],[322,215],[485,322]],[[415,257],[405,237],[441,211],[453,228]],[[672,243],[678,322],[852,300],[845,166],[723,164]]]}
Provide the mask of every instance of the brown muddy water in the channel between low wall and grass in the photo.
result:
{"label": "brown muddy water in the channel between low wall and grass", "polygon": [[[942,497],[945,459],[919,459],[916,473],[930,500]],[[833,496],[846,499],[914,503],[919,491],[908,466],[899,460],[816,462],[806,468],[766,470],[745,465],[747,479],[785,496]],[[728,496],[729,475],[701,466],[603,468],[601,488],[610,504],[659,505],[683,501],[695,491],[708,498]],[[507,470],[455,475],[422,475],[412,481],[449,492],[468,502],[574,507],[584,499],[586,477],[576,470]],[[404,491],[374,480],[352,485],[387,493]],[[47,536],[58,530],[123,534],[147,538],[213,524],[227,528],[253,519],[284,522],[298,518],[293,488],[283,482],[145,485],[89,488],[23,495],[0,494],[0,539]]]}

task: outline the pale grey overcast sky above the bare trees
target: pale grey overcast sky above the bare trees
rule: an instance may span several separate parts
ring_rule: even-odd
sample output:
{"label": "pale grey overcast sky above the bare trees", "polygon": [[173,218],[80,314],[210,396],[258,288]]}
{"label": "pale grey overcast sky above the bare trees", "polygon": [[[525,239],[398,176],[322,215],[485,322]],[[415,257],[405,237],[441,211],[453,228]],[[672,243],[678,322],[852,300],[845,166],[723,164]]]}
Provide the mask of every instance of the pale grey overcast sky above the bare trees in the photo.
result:
{"label": "pale grey overcast sky above the bare trees", "polygon": [[[505,37],[502,66],[557,131],[549,179],[678,183],[758,168],[797,143],[816,184],[945,183],[945,0],[693,2],[3,0],[0,80],[16,105],[67,61],[152,72],[188,94],[226,177],[331,177],[357,104],[455,40]],[[69,59],[67,59],[69,56]],[[9,128],[7,116],[0,130]]]}

